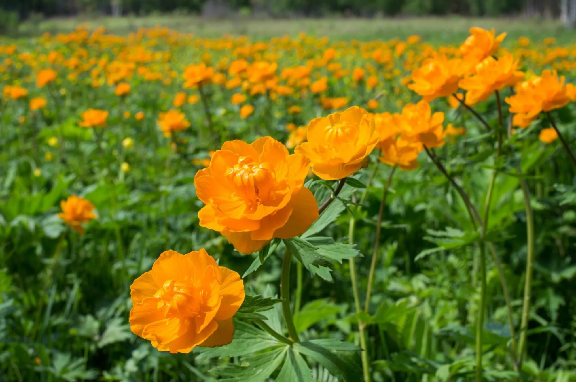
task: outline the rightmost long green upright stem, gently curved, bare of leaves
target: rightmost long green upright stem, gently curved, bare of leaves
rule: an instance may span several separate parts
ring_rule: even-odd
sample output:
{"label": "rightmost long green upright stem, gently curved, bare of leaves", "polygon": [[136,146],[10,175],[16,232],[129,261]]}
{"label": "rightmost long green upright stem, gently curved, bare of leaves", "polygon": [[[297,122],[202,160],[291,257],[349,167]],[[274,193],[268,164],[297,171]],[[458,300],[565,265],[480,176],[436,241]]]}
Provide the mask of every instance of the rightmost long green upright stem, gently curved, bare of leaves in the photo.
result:
{"label": "rightmost long green upright stem, gently curved, bare of leaves", "polygon": [[534,213],[530,205],[530,192],[524,179],[520,179],[522,193],[524,193],[524,206],[526,208],[526,280],[524,282],[524,304],[522,306],[522,319],[520,321],[520,342],[518,344],[518,365],[522,366],[522,358],[526,348],[528,336],[528,316],[530,314],[530,295],[532,294],[532,274],[534,264]]}

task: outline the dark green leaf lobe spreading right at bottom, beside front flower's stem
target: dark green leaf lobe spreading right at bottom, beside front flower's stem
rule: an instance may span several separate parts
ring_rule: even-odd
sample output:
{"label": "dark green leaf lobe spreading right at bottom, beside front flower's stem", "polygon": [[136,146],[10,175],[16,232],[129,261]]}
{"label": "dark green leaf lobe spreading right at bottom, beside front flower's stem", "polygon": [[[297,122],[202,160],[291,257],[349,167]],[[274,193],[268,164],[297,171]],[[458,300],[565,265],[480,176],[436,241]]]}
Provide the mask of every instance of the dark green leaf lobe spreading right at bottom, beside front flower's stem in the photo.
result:
{"label": "dark green leaf lobe spreading right at bottom, beside front flower's stem", "polygon": [[356,346],[348,346],[334,339],[298,342],[293,346],[294,350],[314,359],[341,381],[357,382],[362,376],[362,368],[357,360],[353,362],[350,358],[338,354],[338,351],[356,351],[350,350],[358,349]]}

